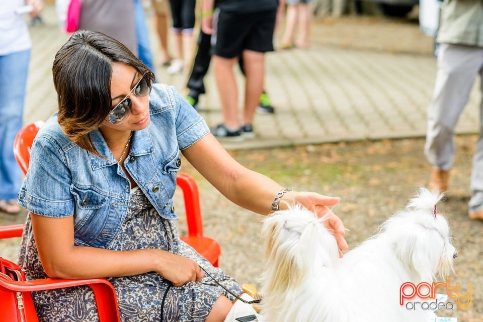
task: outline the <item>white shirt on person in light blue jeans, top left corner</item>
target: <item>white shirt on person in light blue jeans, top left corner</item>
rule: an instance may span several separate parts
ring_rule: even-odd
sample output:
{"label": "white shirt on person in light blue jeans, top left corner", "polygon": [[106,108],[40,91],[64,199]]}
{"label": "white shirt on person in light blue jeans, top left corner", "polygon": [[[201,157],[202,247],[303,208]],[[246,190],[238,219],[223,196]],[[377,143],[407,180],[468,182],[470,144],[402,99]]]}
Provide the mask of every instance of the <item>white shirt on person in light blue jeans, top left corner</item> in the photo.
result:
{"label": "white shirt on person in light blue jeans, top left corner", "polygon": [[15,9],[25,6],[25,0],[0,0],[0,55],[30,49],[29,28]]}

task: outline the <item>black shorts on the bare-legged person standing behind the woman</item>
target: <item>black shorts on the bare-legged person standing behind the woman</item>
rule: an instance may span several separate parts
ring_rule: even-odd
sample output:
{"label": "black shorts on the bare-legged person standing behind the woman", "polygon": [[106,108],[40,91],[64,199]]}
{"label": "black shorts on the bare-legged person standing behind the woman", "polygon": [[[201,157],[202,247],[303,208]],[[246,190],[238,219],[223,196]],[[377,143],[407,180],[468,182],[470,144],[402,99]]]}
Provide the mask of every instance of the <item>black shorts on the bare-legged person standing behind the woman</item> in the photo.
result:
{"label": "black shorts on the bare-legged person standing behind the woman", "polygon": [[273,30],[277,11],[237,14],[221,11],[218,16],[214,54],[234,58],[244,50],[273,51]]}

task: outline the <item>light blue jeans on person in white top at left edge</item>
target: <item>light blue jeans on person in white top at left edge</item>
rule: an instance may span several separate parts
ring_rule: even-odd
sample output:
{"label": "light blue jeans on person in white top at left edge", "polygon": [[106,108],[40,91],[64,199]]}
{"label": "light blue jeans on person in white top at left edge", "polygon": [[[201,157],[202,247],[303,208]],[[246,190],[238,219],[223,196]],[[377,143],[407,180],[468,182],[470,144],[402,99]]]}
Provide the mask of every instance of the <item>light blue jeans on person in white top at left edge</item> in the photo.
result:
{"label": "light blue jeans on person in white top at left edge", "polygon": [[14,140],[22,128],[30,49],[0,56],[0,199],[17,199],[22,171]]}

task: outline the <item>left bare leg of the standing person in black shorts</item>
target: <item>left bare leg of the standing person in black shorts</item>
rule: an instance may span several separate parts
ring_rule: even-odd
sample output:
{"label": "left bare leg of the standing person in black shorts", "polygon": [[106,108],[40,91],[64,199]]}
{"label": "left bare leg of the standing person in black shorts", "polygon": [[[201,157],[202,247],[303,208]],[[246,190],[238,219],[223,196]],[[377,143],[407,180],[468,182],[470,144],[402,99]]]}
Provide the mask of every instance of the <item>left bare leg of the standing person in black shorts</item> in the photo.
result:
{"label": "left bare leg of the standing person in black shorts", "polygon": [[220,95],[223,124],[230,129],[238,129],[240,126],[238,122],[238,88],[233,73],[236,57],[213,56],[211,59],[213,60],[216,85]]}

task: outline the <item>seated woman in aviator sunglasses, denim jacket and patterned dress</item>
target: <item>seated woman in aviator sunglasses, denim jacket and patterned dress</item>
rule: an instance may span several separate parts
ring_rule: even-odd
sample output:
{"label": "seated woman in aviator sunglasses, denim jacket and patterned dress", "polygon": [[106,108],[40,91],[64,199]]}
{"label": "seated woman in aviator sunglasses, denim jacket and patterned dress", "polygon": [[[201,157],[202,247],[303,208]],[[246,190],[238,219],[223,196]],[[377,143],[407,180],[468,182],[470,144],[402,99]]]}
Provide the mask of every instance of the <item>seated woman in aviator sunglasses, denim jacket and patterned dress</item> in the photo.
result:
{"label": "seated woman in aviator sunglasses, denim jacket and patterned dress", "polygon": [[[179,239],[172,198],[180,153],[247,209],[268,214],[278,195],[329,213],[347,248],[342,222],[328,209],[339,198],[284,190],[238,164],[191,105],[153,84],[152,72],[116,40],[77,31],[52,71],[58,113],[34,141],[19,194],[30,212],[19,258],[29,278],[108,277],[122,321],[222,321],[233,296],[204,271],[235,294],[241,289]],[[96,320],[87,287],[33,297],[41,321]]]}

